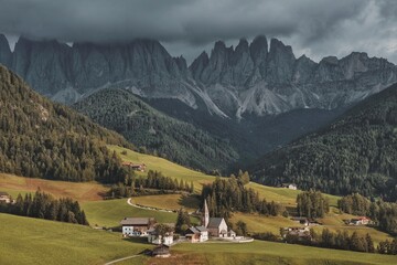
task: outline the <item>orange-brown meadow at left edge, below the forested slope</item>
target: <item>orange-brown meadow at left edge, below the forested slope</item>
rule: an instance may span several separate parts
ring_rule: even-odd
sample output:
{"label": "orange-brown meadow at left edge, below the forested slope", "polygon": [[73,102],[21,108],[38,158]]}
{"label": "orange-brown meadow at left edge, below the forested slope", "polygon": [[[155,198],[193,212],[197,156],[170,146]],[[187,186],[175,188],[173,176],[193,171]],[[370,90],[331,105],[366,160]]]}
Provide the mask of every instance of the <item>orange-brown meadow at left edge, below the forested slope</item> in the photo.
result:
{"label": "orange-brown meadow at left edge, below the forested slope", "polygon": [[81,202],[101,200],[101,194],[108,190],[96,182],[75,183],[0,173],[0,191],[6,191],[14,198],[18,193],[35,192],[37,188],[54,197],[69,197]]}

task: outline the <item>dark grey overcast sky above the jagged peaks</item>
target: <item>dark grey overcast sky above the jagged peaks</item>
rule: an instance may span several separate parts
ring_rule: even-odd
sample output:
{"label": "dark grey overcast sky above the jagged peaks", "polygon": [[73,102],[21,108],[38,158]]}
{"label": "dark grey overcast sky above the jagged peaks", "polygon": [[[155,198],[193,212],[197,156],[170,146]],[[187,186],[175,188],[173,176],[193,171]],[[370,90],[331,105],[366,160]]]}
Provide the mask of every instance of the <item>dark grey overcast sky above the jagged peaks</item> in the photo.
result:
{"label": "dark grey overcast sky above the jagged peaks", "polygon": [[0,32],[63,42],[161,41],[189,62],[213,42],[278,38],[297,56],[367,52],[397,63],[396,0],[0,0]]}

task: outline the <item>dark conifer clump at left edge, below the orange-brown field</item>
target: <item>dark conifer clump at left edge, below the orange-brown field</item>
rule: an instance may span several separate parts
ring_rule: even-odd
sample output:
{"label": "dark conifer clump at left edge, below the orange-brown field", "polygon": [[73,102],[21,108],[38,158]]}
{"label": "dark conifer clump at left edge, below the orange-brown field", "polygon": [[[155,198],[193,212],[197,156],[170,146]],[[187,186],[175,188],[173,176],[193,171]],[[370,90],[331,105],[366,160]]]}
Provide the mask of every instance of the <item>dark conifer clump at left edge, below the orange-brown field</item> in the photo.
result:
{"label": "dark conifer clump at left edge, below the orange-brown field", "polygon": [[88,225],[85,212],[77,201],[73,201],[71,198],[54,199],[51,194],[40,190],[34,195],[31,193],[24,197],[18,194],[15,203],[0,203],[0,212]]}

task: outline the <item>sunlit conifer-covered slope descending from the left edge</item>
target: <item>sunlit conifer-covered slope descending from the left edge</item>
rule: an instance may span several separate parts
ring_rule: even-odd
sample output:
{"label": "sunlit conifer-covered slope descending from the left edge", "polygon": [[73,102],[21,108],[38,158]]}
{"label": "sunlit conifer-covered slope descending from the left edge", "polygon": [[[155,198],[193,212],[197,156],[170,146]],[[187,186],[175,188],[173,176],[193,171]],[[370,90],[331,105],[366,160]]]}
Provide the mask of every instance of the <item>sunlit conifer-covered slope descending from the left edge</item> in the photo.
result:
{"label": "sunlit conifer-covered slope descending from the left edge", "polygon": [[0,109],[0,172],[67,181],[124,178],[106,144],[132,145],[40,96],[1,65]]}

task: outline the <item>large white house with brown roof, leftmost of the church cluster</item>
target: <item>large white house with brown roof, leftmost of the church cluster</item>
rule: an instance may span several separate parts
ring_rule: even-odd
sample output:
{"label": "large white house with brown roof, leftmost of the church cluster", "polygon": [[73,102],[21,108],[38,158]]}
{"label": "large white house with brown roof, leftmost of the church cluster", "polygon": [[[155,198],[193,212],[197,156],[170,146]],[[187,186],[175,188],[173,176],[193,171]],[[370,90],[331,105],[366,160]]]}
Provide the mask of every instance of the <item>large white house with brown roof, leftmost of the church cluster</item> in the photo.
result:
{"label": "large white house with brown roof, leftmost of the church cluster", "polygon": [[122,236],[147,236],[153,230],[155,220],[151,218],[125,218],[120,222]]}

